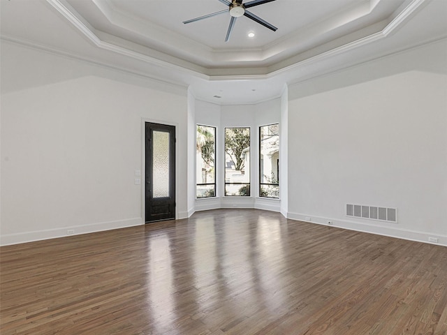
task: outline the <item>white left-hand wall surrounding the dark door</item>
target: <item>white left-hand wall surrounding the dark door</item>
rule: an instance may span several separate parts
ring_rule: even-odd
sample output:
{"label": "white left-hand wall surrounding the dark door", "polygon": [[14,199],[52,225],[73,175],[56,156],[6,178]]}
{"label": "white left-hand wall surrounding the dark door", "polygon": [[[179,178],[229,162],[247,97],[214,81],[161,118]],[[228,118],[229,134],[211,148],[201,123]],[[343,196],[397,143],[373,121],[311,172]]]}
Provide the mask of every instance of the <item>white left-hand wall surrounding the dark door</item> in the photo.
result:
{"label": "white left-hand wall surrounding the dark door", "polygon": [[[1,59],[1,244],[142,224],[142,120],[186,138],[186,88],[12,43]],[[186,145],[177,141],[178,217]]]}

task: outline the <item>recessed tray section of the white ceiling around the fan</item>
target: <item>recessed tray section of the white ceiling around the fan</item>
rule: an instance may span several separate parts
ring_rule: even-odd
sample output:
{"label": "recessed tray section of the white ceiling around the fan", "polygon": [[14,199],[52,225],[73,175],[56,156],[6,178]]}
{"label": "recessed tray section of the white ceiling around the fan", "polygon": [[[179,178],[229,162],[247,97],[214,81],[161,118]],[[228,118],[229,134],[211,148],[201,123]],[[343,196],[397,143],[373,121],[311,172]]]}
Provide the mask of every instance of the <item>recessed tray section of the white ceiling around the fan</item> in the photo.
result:
{"label": "recessed tray section of the white ceiling around the fan", "polygon": [[[248,1],[245,1],[248,2]],[[219,0],[67,0],[97,34],[118,43],[123,38],[209,69],[273,66],[280,61],[356,32],[353,40],[376,32],[400,13],[405,0],[277,0],[249,8],[278,27],[271,31],[247,17],[230,22]],[[406,1],[409,3],[409,1]],[[209,13],[226,13],[183,24]],[[376,24],[376,27],[371,27]],[[369,28],[369,29],[367,29]],[[363,30],[362,34],[359,31]],[[247,34],[252,31],[255,37]],[[222,71],[226,73],[228,71]],[[265,73],[257,69],[254,73]]]}

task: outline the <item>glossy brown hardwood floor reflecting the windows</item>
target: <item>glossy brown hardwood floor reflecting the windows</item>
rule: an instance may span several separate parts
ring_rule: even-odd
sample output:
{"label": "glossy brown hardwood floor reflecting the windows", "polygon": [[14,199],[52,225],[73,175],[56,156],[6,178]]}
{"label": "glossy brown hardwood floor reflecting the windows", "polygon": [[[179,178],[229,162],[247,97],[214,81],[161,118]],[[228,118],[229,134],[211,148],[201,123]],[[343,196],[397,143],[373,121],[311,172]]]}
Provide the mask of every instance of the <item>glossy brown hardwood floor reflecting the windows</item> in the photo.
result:
{"label": "glossy brown hardwood floor reflecting the windows", "polygon": [[447,248],[256,209],[4,246],[0,334],[447,334]]}

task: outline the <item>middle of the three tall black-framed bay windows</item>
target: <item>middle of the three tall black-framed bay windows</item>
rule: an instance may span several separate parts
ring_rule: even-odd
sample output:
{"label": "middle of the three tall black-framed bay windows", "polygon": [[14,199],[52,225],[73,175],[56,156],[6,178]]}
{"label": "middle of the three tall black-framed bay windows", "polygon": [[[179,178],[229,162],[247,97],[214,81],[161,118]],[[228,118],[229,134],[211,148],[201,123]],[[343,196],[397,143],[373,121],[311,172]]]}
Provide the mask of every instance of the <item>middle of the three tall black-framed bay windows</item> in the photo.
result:
{"label": "middle of the three tall black-framed bay windows", "polygon": [[250,195],[250,128],[225,128],[225,195]]}

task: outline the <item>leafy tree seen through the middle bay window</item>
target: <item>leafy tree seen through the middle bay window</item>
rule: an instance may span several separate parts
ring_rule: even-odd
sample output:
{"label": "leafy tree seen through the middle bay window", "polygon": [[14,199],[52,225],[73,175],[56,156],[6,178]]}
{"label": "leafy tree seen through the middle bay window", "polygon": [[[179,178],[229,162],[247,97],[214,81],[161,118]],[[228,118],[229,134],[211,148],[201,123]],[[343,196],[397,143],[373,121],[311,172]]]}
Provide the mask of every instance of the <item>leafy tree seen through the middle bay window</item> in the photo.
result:
{"label": "leafy tree seen through the middle bay window", "polygon": [[225,130],[225,152],[230,155],[235,170],[244,168],[242,152],[250,147],[250,128],[226,128]]}

